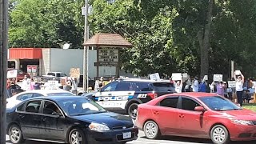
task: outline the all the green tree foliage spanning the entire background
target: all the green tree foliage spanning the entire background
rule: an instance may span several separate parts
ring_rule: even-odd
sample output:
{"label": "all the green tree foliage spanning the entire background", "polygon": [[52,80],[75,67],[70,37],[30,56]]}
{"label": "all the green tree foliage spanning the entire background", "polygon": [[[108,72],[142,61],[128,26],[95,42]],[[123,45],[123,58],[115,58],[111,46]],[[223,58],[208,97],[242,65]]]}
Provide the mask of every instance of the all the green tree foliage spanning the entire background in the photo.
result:
{"label": "all the green tree foliage spanning the entire background", "polygon": [[[10,46],[82,47],[83,0],[11,0]],[[200,75],[198,32],[206,25],[206,0],[90,0],[90,37],[118,33],[134,47],[122,50],[122,69]],[[215,0],[210,28],[209,75],[230,74],[230,60],[252,75],[256,2]]]}

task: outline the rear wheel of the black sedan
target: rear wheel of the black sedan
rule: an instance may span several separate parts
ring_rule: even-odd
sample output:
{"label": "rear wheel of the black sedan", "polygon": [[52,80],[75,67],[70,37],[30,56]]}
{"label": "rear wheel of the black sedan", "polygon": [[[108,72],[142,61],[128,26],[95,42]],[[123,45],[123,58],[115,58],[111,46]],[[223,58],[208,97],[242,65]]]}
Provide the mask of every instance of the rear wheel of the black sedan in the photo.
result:
{"label": "rear wheel of the black sedan", "polygon": [[22,143],[25,141],[23,138],[22,130],[18,125],[11,125],[8,130],[10,142],[14,144]]}

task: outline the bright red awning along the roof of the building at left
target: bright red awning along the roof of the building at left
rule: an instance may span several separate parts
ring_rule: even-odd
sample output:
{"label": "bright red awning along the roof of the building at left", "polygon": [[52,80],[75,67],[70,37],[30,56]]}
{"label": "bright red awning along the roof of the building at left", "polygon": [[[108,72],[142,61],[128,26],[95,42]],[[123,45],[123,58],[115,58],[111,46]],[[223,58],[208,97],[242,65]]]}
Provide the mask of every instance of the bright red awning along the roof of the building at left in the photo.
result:
{"label": "bright red awning along the roof of the building at left", "polygon": [[10,48],[9,59],[41,59],[41,48]]}

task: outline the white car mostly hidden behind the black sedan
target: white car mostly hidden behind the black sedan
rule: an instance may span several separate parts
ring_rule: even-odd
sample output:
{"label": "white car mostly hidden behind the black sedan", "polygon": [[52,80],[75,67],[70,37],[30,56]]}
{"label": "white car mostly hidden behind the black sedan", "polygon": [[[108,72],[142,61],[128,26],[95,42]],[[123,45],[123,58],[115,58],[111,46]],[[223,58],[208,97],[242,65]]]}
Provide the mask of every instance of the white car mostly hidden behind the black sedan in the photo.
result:
{"label": "white car mostly hidden behind the black sedan", "polygon": [[27,98],[42,97],[42,96],[70,96],[74,95],[66,90],[26,90],[22,93],[15,94],[14,96],[6,99],[6,108],[11,108],[18,105],[20,102],[26,100]]}

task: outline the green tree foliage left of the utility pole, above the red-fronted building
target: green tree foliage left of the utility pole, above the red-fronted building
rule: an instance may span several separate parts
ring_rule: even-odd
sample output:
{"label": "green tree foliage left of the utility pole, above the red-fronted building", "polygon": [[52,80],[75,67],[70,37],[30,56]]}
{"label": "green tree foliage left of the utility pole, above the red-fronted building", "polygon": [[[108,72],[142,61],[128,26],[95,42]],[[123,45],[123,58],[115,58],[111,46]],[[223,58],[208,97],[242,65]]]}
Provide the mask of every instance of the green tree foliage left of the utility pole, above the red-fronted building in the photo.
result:
{"label": "green tree foliage left of the utility pole, above the red-fronted building", "polygon": [[[82,47],[82,1],[18,0],[10,12],[11,47]],[[79,11],[78,11],[79,10]]]}

